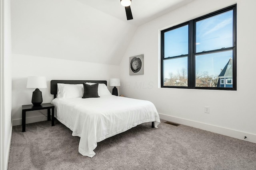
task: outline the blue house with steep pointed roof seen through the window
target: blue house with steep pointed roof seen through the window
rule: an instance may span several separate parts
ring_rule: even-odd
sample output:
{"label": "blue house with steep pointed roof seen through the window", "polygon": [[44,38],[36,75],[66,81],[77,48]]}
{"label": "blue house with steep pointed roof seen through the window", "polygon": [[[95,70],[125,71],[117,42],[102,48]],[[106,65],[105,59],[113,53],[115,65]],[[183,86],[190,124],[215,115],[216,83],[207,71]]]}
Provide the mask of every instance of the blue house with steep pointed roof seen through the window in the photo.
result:
{"label": "blue house with steep pointed roof seen through the window", "polygon": [[217,87],[233,87],[233,60],[231,58],[218,76]]}

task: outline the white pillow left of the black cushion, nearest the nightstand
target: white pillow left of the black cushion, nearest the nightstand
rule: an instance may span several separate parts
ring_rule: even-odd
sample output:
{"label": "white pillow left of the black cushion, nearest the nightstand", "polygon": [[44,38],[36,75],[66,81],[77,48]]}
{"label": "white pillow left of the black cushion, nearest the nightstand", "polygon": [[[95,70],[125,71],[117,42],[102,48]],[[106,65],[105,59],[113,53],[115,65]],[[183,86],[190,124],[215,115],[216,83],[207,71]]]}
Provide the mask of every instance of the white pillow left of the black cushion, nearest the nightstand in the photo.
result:
{"label": "white pillow left of the black cushion, nearest the nightstand", "polygon": [[62,84],[57,83],[58,92],[57,98],[68,99],[68,98],[82,98],[84,95],[83,84]]}

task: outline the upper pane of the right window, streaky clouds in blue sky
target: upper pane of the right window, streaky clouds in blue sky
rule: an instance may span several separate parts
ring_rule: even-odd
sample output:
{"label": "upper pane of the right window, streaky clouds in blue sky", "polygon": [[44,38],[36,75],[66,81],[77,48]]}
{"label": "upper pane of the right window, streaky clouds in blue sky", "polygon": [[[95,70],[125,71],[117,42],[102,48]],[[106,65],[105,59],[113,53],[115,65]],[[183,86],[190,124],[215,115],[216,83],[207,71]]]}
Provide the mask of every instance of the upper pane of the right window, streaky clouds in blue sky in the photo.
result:
{"label": "upper pane of the right window, streaky clouds in blue sky", "polygon": [[233,46],[233,11],[196,22],[196,53]]}

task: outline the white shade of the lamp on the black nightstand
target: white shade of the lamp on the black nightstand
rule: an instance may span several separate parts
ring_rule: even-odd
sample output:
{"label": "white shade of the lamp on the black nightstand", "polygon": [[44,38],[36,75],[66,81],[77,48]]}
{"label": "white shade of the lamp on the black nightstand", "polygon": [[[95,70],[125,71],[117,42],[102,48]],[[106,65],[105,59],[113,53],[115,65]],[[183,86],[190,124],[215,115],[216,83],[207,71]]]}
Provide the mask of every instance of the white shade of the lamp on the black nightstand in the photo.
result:
{"label": "white shade of the lamp on the black nightstand", "polygon": [[28,76],[27,88],[47,88],[46,78],[42,76]]}

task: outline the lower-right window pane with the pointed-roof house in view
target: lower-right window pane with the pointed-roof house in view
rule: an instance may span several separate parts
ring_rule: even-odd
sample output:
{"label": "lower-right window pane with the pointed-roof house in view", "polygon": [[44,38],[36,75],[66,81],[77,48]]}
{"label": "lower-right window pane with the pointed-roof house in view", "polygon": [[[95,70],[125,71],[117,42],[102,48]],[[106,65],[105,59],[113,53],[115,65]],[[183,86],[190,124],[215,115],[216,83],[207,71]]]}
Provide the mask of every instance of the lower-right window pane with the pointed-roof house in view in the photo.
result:
{"label": "lower-right window pane with the pointed-roof house in view", "polygon": [[233,57],[231,51],[196,55],[196,87],[232,88]]}

